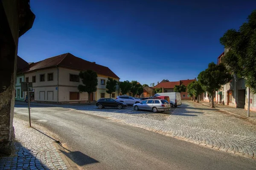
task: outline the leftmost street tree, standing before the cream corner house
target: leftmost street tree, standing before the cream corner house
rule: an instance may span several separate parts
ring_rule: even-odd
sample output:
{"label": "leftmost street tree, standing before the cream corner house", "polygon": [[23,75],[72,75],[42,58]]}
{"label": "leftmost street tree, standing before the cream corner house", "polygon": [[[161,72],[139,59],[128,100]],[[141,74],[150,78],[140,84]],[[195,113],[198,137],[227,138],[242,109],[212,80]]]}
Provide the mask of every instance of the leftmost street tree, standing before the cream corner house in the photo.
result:
{"label": "leftmost street tree, standing before the cream corner house", "polygon": [[88,93],[88,100],[90,104],[90,94],[97,91],[98,75],[95,71],[87,70],[80,71],[79,77],[81,78],[83,85],[79,85],[77,88],[80,93]]}

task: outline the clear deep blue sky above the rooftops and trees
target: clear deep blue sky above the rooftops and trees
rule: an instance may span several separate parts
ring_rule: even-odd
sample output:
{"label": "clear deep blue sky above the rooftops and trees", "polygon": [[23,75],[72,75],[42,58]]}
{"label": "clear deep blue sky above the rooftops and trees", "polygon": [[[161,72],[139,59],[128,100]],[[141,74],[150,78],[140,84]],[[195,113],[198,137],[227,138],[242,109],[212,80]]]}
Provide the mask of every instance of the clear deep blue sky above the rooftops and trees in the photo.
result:
{"label": "clear deep blue sky above the rooftops and trees", "polygon": [[18,55],[37,62],[59,54],[109,67],[141,84],[194,79],[224,51],[256,0],[30,0],[33,27]]}

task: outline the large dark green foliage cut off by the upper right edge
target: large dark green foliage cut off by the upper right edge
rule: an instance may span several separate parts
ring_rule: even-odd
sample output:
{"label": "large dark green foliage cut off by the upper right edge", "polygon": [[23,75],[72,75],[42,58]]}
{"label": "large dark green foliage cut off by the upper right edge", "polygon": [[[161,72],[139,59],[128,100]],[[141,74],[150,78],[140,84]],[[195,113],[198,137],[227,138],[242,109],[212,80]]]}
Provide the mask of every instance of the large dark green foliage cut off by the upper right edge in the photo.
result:
{"label": "large dark green foliage cut off by the upper right edge", "polygon": [[256,94],[256,10],[238,31],[227,30],[220,42],[229,50],[223,57],[224,65],[232,74],[244,77],[245,85]]}

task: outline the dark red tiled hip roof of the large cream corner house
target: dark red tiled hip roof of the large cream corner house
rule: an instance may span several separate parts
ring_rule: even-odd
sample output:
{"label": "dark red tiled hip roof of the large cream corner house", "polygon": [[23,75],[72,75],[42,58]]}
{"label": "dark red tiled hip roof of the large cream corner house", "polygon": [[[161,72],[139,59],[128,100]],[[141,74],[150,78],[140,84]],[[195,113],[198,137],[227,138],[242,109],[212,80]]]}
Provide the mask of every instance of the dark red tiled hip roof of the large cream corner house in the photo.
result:
{"label": "dark red tiled hip roof of the large cream corner house", "polygon": [[95,62],[86,61],[70,53],[44,59],[38,62],[36,65],[33,65],[31,68],[29,68],[29,70],[25,72],[53,66],[63,66],[66,68],[73,68],[81,71],[93,70],[97,74],[119,79],[119,77],[116,76],[116,74],[114,74],[113,71],[111,71],[111,69],[109,69],[108,67],[96,64]]}

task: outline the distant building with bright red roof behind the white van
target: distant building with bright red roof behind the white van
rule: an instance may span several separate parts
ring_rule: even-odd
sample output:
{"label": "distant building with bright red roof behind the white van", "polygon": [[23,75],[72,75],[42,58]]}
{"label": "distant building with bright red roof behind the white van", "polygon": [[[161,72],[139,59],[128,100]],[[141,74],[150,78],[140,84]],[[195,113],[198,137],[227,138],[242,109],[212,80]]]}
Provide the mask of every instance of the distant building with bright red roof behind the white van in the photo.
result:
{"label": "distant building with bright red roof behind the white van", "polygon": [[[165,93],[175,92],[174,91],[175,85],[182,85],[183,84],[183,85],[187,86],[190,82],[193,82],[193,81],[196,81],[196,79],[186,79],[186,80],[180,80],[180,81],[177,81],[177,82],[169,82],[169,80],[162,80],[160,83],[158,83],[156,86],[154,86],[153,89],[163,88]],[[155,92],[154,92],[154,94],[155,94]],[[187,91],[186,92],[181,92],[180,95],[181,95],[182,100],[191,99],[189,97],[189,94],[187,93]]]}

